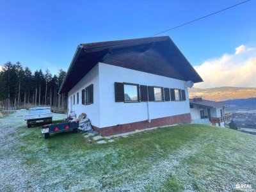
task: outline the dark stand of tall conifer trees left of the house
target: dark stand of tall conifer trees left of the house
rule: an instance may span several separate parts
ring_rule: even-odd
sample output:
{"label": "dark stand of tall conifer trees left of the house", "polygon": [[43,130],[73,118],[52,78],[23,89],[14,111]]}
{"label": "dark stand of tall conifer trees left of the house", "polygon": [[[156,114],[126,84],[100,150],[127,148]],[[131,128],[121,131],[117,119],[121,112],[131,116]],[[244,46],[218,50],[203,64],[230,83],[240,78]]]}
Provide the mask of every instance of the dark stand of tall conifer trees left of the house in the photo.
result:
{"label": "dark stand of tall conifer trees left of the house", "polygon": [[49,69],[31,72],[19,61],[8,61],[0,71],[0,106],[21,109],[47,105],[54,111],[65,111],[67,94],[58,94],[65,76],[62,69],[54,75]]}

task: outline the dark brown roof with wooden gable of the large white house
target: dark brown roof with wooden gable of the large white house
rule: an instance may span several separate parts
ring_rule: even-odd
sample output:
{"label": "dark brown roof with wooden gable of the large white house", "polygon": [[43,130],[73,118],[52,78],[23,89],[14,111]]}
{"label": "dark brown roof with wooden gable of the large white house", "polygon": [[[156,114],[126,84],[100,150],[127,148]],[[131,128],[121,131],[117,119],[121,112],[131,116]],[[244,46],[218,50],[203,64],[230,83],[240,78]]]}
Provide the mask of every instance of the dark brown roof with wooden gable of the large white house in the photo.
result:
{"label": "dark brown roof with wooden gable of the large white house", "polygon": [[60,93],[71,90],[99,62],[194,83],[203,81],[170,37],[158,36],[78,45]]}

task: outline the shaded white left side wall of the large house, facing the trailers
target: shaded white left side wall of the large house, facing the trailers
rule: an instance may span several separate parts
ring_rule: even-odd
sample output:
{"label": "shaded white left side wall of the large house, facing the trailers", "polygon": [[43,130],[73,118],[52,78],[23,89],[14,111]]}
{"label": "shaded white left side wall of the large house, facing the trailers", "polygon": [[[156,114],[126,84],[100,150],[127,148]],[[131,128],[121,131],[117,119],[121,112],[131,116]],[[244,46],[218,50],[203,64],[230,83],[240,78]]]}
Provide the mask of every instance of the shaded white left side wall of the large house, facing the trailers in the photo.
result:
{"label": "shaded white left side wall of the large house, facing the trailers", "polygon": [[[90,84],[93,84],[93,104],[90,105],[82,105],[82,93],[81,91],[89,86]],[[77,92],[79,92],[79,104],[77,104]],[[100,102],[99,102],[99,65],[96,65],[95,67],[90,70],[86,76],[79,81],[79,83],[76,84],[68,92],[68,114],[70,111],[70,96],[73,97],[75,95],[76,100],[75,104],[73,104],[73,99],[72,99],[72,111],[76,112],[77,117],[81,115],[81,113],[86,113],[88,118],[90,118],[91,122],[93,125],[99,127],[100,124]]]}

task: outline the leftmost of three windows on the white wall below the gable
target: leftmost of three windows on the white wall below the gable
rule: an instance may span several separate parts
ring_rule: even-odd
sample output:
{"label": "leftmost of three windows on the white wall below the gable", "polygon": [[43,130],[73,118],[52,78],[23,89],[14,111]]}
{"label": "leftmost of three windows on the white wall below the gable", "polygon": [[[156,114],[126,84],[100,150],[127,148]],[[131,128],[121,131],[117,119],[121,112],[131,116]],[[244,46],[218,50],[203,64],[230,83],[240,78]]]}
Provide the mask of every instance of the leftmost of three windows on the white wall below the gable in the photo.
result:
{"label": "leftmost of three windows on the white wall below the gable", "polygon": [[139,90],[138,84],[124,84],[124,101],[138,102],[139,101],[138,90]]}

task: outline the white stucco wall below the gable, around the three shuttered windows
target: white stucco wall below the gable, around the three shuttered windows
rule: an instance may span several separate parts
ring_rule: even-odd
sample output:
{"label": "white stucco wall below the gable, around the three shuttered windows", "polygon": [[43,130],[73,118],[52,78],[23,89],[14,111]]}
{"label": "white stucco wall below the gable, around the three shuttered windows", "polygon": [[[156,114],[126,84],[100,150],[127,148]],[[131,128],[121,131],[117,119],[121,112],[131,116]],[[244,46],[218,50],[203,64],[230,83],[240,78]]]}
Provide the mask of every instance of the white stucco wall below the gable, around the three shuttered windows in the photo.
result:
{"label": "white stucco wall below the gable, around the three shuttered windows", "polygon": [[115,82],[186,90],[186,101],[148,102],[150,119],[190,113],[185,81],[99,63],[99,127],[139,122],[148,118],[147,102],[115,102]]}

